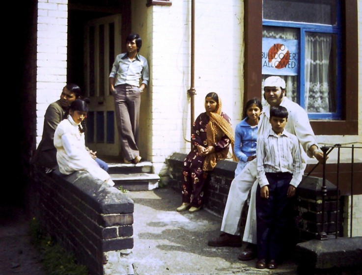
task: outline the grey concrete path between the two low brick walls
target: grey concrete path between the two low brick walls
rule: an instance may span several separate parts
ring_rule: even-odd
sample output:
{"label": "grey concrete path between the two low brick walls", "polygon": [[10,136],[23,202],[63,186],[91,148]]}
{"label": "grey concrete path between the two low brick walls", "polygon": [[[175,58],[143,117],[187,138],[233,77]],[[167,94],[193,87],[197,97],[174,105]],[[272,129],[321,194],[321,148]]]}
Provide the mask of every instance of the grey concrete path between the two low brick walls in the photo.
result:
{"label": "grey concrete path between the two low brick walls", "polygon": [[134,270],[136,275],[295,275],[297,265],[286,261],[276,270],[255,269],[242,262],[244,247],[209,247],[220,234],[221,217],[207,210],[176,212],[181,193],[172,189],[128,192],[135,202]]}

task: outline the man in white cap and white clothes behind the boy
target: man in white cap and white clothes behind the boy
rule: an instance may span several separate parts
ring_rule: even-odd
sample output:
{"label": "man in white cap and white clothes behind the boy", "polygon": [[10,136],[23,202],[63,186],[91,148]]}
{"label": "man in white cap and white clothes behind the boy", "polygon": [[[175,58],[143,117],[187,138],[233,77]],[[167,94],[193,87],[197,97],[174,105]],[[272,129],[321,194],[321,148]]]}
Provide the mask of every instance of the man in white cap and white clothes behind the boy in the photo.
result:
{"label": "man in white cap and white clothes behind the boy", "polygon": [[[306,166],[306,155],[315,157],[323,163],[323,153],[319,149],[313,130],[309,124],[306,111],[298,104],[289,100],[285,95],[285,82],[277,76],[268,77],[264,81],[264,98],[268,105],[263,107],[258,124],[258,135],[269,131],[269,112],[272,106],[285,107],[288,114],[288,123],[285,130],[297,136],[302,146],[302,158]],[[243,241],[249,245],[239,255],[239,260],[248,261],[256,257],[256,215],[255,215],[255,192],[257,187],[257,164],[256,159],[248,162],[243,171],[231,182],[221,226],[222,234],[208,242],[213,247],[240,247],[239,225],[241,212],[245,201],[251,190],[251,202],[249,205],[248,220],[245,226]],[[251,188],[253,187],[253,188]]]}

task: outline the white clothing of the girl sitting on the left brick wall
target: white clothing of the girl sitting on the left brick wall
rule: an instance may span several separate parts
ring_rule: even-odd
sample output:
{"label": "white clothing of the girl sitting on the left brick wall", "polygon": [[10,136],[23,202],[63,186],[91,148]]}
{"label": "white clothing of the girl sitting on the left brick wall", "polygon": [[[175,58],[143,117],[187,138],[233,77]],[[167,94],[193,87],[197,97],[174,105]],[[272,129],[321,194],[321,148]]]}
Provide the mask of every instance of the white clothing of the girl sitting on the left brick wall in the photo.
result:
{"label": "white clothing of the girl sitting on the left brick wall", "polygon": [[68,175],[74,171],[83,170],[102,181],[108,181],[111,178],[86,150],[84,133],[79,132],[78,124],[70,115],[56,127],[54,146],[60,173]]}

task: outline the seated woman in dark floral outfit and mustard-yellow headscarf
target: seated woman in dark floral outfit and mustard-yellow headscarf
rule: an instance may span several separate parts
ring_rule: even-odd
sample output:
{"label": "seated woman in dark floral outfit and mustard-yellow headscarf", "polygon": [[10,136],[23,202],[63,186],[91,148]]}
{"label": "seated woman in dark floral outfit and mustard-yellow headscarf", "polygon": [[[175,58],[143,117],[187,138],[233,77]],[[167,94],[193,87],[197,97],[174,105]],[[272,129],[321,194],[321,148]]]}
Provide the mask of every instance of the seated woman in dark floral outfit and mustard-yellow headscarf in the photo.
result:
{"label": "seated woman in dark floral outfit and mustard-yellow headscarf", "polygon": [[[221,111],[221,100],[215,92],[205,97],[205,110],[194,122],[191,142],[193,149],[183,167],[182,205],[177,211],[189,209],[194,213],[203,204],[204,185],[209,171],[219,160],[227,157],[229,146],[234,146],[234,131],[230,118]],[[233,156],[234,157],[234,156]]]}

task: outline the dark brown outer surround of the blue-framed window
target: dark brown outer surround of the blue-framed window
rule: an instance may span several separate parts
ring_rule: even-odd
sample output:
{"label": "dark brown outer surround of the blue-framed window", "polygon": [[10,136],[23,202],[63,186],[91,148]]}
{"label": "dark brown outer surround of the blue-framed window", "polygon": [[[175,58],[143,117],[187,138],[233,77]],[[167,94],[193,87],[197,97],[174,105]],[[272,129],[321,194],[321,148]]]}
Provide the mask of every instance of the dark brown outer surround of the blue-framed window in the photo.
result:
{"label": "dark brown outer surround of the blue-framed window", "polygon": [[[262,0],[245,0],[244,102],[260,98]],[[315,135],[358,135],[357,0],[341,1],[341,119],[310,120]],[[346,65],[348,64],[348,66]]]}

